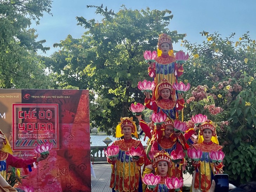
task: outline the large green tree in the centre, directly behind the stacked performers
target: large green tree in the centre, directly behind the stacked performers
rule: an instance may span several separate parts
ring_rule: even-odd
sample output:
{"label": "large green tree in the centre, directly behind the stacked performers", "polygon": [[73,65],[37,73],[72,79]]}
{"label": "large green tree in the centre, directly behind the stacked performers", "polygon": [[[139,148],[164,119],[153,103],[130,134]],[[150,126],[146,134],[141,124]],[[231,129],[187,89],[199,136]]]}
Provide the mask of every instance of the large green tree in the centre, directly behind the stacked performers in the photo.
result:
{"label": "large green tree in the centre, directly behind the stacked performers", "polygon": [[132,116],[129,105],[144,103],[137,83],[145,78],[148,64],[145,50],[156,50],[158,36],[169,34],[174,42],[185,34],[170,31],[171,11],[131,10],[122,6],[114,13],[103,6],[96,8],[101,22],[77,17],[86,32],[81,39],[71,35],[54,46],[60,47],[50,69],[56,77],[56,87],[72,85],[90,89],[91,126],[113,133],[122,116]]}

